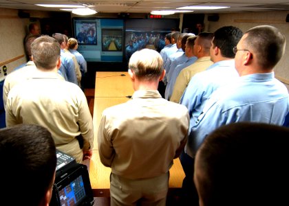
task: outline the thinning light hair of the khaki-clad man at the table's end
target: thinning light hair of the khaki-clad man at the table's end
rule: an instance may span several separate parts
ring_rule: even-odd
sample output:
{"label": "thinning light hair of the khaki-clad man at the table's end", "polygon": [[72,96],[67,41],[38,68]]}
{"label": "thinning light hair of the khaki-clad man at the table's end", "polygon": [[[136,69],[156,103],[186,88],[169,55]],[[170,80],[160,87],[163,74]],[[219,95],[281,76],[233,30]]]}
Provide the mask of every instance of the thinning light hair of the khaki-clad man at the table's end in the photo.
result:
{"label": "thinning light hair of the khaki-clad man at the table's end", "polygon": [[155,80],[162,75],[162,56],[153,49],[134,52],[129,59],[129,69],[138,79]]}

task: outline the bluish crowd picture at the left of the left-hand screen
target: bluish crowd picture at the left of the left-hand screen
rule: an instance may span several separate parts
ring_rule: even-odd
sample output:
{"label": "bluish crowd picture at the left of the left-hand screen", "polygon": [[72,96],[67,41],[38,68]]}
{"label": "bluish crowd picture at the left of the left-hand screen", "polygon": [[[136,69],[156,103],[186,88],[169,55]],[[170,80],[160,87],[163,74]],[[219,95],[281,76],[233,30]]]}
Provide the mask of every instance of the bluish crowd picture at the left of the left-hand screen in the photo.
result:
{"label": "bluish crowd picture at the left of the left-hand screen", "polygon": [[77,23],[76,31],[78,44],[97,45],[96,23]]}

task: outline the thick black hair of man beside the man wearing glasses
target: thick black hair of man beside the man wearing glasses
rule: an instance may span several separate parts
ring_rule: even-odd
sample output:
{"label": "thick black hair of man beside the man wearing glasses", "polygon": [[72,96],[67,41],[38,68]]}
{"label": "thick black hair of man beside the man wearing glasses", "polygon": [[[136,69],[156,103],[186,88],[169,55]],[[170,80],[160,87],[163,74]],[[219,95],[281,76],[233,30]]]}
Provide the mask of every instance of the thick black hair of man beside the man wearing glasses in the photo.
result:
{"label": "thick black hair of man beside the man wearing glasses", "polygon": [[214,32],[213,48],[219,47],[222,56],[226,58],[235,58],[233,47],[237,46],[243,32],[233,26],[221,27]]}

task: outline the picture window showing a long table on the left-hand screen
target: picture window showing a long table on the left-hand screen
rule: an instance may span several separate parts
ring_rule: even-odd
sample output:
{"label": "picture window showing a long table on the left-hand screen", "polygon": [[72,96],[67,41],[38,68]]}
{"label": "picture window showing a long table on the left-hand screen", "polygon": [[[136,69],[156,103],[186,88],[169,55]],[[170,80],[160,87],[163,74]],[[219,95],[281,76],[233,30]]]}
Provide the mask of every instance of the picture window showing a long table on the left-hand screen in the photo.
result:
{"label": "picture window showing a long table on the left-hand screen", "polygon": [[122,51],[122,30],[103,29],[101,30],[103,52]]}

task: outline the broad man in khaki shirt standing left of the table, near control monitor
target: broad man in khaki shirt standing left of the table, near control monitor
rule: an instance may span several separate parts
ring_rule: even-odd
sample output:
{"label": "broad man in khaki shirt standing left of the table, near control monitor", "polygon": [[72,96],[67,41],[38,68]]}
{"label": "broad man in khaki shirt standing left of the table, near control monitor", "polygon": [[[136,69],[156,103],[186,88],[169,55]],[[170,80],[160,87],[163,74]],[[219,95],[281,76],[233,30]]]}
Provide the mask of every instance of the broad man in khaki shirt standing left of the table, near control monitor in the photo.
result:
{"label": "broad man in khaki shirt standing left of the table, near control monitor", "polygon": [[[56,148],[78,163],[92,156],[92,116],[81,88],[66,82],[57,73],[61,50],[50,36],[36,38],[32,45],[36,71],[15,85],[8,94],[6,125],[37,124],[47,128]],[[81,147],[78,139],[83,139]]]}

